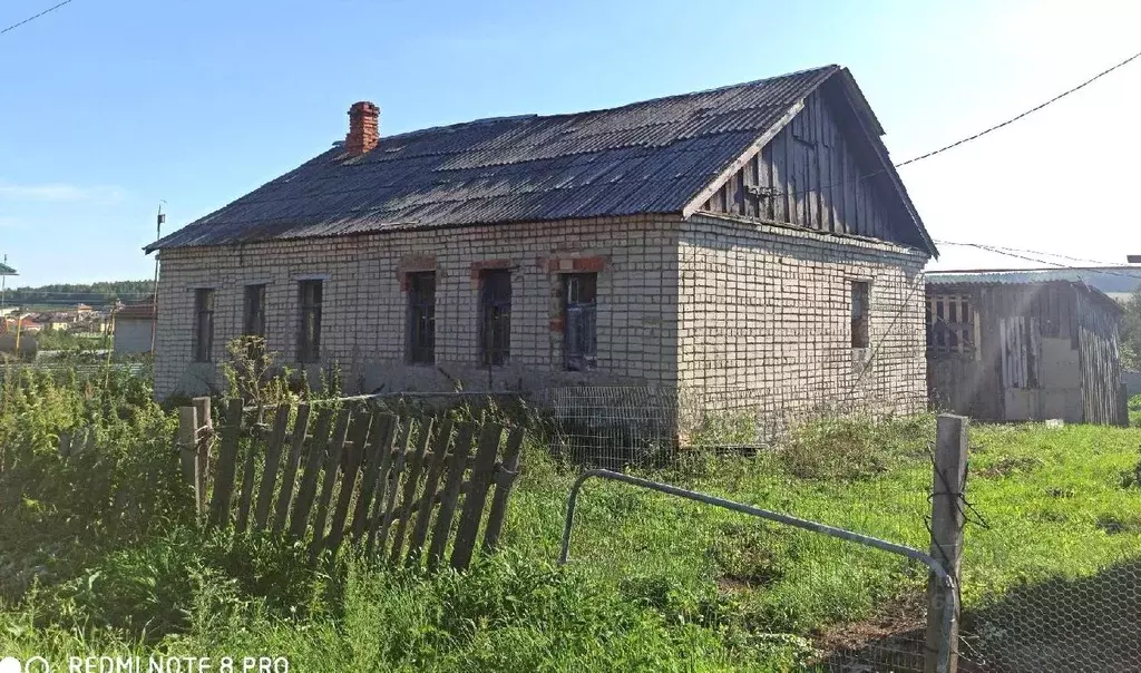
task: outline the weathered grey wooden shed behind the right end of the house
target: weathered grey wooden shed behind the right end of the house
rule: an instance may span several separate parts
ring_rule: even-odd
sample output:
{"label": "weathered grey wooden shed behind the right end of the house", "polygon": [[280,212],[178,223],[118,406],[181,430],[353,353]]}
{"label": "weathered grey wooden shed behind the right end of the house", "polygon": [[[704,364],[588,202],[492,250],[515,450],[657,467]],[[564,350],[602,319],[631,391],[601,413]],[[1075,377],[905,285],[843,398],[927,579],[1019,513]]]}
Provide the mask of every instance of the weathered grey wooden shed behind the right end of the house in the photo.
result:
{"label": "weathered grey wooden shed behind the right end of the house", "polygon": [[986,421],[1123,423],[1120,316],[1076,270],[928,274],[930,398]]}

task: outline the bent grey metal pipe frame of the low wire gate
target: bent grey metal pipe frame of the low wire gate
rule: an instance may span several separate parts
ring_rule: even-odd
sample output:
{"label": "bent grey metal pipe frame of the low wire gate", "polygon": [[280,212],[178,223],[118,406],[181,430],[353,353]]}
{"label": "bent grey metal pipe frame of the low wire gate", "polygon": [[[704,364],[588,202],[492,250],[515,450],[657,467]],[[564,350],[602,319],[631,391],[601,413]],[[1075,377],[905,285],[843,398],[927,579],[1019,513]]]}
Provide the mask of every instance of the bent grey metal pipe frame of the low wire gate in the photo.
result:
{"label": "bent grey metal pipe frame of the low wire gate", "polygon": [[741,512],[743,514],[766,519],[776,524],[792,526],[793,528],[801,528],[803,530],[819,533],[820,535],[847,540],[848,542],[907,557],[923,563],[930,568],[931,573],[934,574],[939,582],[948,589],[947,597],[949,600],[944,602],[942,624],[940,629],[942,638],[939,640],[939,665],[937,668],[939,673],[948,673],[952,652],[950,634],[952,626],[955,621],[955,602],[957,598],[955,591],[955,579],[948,575],[942,568],[942,565],[934,560],[931,556],[925,554],[917,549],[912,549],[909,546],[904,546],[901,544],[896,544],[893,542],[888,542],[869,535],[852,533],[851,530],[844,530],[843,528],[835,528],[825,524],[817,524],[816,521],[809,521],[808,519],[800,519],[798,517],[791,517],[788,514],[782,514],[770,510],[762,510],[760,508],[726,500],[715,495],[688,490],[686,488],[679,488],[677,486],[670,486],[669,484],[661,484],[658,481],[650,481],[649,479],[642,479],[641,477],[631,477],[630,475],[623,475],[621,472],[612,472],[610,470],[588,470],[575,480],[574,486],[570,487],[570,495],[567,497],[567,518],[563,526],[563,546],[559,550],[560,566],[565,565],[570,556],[570,530],[574,528],[574,512],[576,505],[578,504],[578,492],[582,490],[583,483],[591,477],[609,479],[612,481],[622,481],[624,484],[631,484],[649,490],[675,495],[686,500],[693,500],[735,512]]}

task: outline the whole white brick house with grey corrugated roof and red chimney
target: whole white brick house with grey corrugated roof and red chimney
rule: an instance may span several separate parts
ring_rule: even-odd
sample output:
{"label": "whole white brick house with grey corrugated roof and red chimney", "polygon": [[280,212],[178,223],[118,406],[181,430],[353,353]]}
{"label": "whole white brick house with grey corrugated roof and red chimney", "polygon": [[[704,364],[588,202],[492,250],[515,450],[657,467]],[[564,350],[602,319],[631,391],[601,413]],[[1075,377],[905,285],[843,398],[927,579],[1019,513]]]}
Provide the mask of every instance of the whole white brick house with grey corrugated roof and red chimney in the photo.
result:
{"label": "whole white brick house with grey corrugated roof and red chimney", "polygon": [[147,246],[155,390],[227,340],[350,388],[696,389],[763,413],[924,404],[937,251],[847,68],[343,143]]}

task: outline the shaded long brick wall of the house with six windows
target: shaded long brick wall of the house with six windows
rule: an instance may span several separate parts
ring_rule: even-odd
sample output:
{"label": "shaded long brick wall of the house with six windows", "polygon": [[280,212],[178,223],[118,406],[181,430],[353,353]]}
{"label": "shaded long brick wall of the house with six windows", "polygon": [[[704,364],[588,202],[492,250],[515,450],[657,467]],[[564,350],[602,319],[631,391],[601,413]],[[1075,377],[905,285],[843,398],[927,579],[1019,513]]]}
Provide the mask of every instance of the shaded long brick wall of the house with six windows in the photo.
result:
{"label": "shaded long brick wall of the house with six windows", "polygon": [[[478,282],[472,265],[511,268],[511,362],[493,372],[496,389],[575,382],[675,379],[675,233],[650,218],[497,225],[240,246],[173,249],[161,254],[155,392],[197,392],[213,365],[192,363],[194,289],[216,289],[213,360],[242,324],[243,287],[267,283],[266,336],[292,363],[299,322],[297,281],[324,275],[322,365],[338,363],[350,389],[450,390],[487,387],[478,362]],[[598,367],[563,371],[559,276],[550,260],[598,258]],[[407,298],[400,269],[436,269],[436,365],[405,364]],[[403,267],[402,267],[403,265]]]}

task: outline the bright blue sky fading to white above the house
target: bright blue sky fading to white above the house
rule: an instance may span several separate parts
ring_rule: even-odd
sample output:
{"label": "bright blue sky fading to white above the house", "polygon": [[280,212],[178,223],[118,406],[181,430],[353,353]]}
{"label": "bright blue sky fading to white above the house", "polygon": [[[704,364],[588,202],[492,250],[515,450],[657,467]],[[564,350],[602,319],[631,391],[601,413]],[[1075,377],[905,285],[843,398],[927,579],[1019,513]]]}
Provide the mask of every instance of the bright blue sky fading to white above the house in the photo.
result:
{"label": "bright blue sky fading to white above the house", "polygon": [[[5,0],[0,27],[55,0]],[[1138,50],[1127,1],[73,0],[0,35],[0,251],[17,284],[148,277],[167,230],[345,135],[608,107],[826,63],[909,159]],[[1119,262],[1141,63],[901,170],[937,240]],[[944,246],[937,267],[1028,262]]]}

